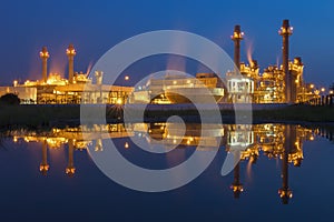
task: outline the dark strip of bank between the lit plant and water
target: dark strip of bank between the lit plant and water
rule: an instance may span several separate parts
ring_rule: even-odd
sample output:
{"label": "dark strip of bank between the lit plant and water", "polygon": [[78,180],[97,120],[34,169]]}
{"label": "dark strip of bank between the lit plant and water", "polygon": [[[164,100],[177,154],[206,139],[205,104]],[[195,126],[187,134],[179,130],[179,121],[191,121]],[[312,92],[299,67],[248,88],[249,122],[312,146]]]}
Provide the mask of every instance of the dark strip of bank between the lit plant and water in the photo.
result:
{"label": "dark strip of bank between the lit plant and water", "polygon": [[[104,108],[104,107],[102,107]],[[101,109],[99,105],[91,105],[91,109]],[[139,108],[128,109],[129,113],[139,113]],[[205,108],[203,108],[205,109]],[[247,119],[249,112],[246,108],[238,108],[238,117]],[[210,114],[209,108],[204,110]],[[95,112],[92,112],[95,113]],[[214,112],[213,112],[214,113]],[[235,122],[235,111],[230,108],[220,108],[224,123]],[[183,117],[186,122],[200,122],[198,111],[191,107],[165,105],[164,109],[150,105],[145,111],[146,122],[166,121],[170,115]],[[311,107],[304,104],[278,105],[278,107],[255,107],[253,109],[254,123],[322,123],[334,124],[334,107]],[[140,121],[140,117],[131,114],[132,121]],[[143,119],[143,118],[141,118]],[[107,107],[107,122],[122,122],[122,108],[119,105]],[[206,121],[206,120],[205,120]],[[208,120],[209,121],[209,120]],[[12,127],[56,127],[80,124],[80,105],[4,105],[0,108],[0,128]]]}

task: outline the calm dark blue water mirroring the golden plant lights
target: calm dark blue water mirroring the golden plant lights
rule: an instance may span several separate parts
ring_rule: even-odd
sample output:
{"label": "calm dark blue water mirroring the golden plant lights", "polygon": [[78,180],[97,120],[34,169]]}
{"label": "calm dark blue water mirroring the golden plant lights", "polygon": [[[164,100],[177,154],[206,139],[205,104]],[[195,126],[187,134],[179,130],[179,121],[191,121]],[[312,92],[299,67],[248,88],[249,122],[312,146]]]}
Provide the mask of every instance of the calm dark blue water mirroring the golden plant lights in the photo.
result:
{"label": "calm dark blue water mirroring the golden plant lights", "polygon": [[[200,129],[207,141],[197,148]],[[99,138],[82,138],[87,131]],[[164,123],[108,124],[11,131],[1,140],[1,221],[332,221],[334,198],[333,133],[317,127],[187,124],[179,138]],[[145,193],[107,178],[88,153],[104,152],[112,138],[118,151],[148,169],[180,164],[195,149],[212,152],[212,164],[179,189]],[[170,149],[151,154],[139,149]],[[158,144],[158,145],[157,145]],[[240,162],[223,176],[234,145]]]}

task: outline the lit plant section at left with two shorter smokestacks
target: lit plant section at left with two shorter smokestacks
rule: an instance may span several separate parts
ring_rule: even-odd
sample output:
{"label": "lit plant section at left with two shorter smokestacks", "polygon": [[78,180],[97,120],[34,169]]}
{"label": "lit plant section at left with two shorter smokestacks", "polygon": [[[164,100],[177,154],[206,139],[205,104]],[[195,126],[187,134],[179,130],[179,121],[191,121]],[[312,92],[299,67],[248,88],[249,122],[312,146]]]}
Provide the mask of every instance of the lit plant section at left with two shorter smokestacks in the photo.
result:
{"label": "lit plant section at left with two shorter smokestacks", "polygon": [[42,61],[41,79],[27,80],[19,84],[16,80],[12,87],[1,87],[0,95],[16,93],[24,104],[70,104],[70,103],[110,103],[124,104],[132,92],[131,87],[102,84],[102,71],[96,71],[94,83],[89,73],[75,72],[76,50],[72,44],[66,50],[68,57],[68,79],[58,73],[48,75],[48,59],[50,54],[46,47],[40,51]]}

